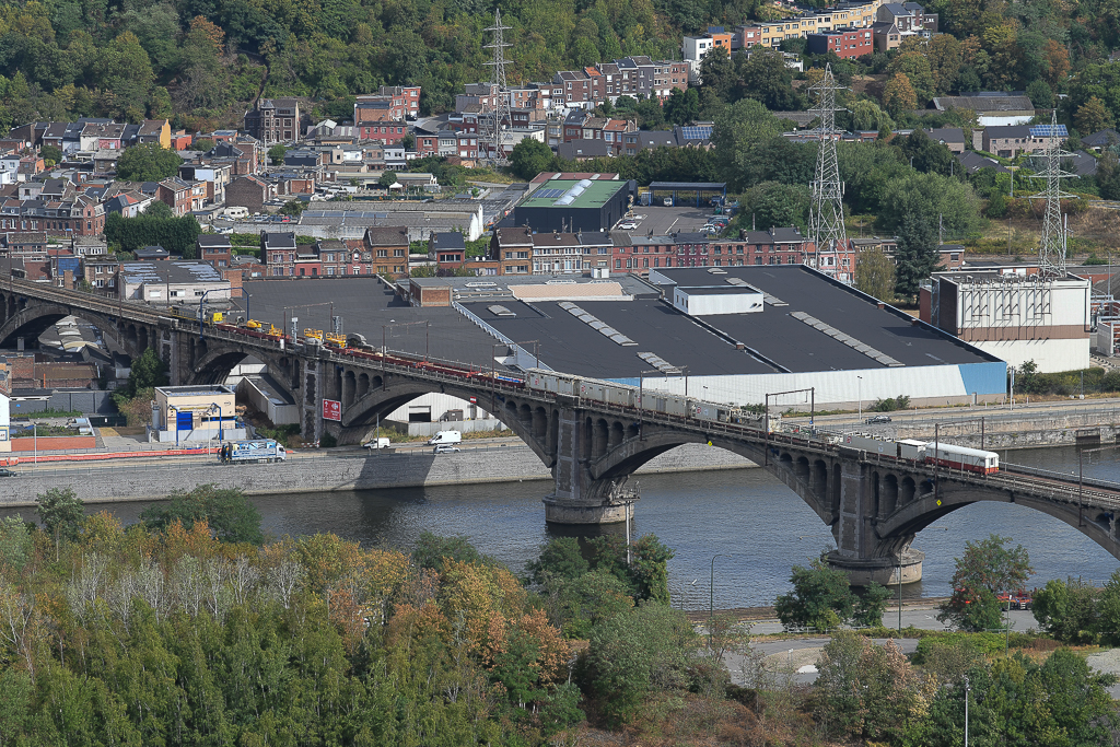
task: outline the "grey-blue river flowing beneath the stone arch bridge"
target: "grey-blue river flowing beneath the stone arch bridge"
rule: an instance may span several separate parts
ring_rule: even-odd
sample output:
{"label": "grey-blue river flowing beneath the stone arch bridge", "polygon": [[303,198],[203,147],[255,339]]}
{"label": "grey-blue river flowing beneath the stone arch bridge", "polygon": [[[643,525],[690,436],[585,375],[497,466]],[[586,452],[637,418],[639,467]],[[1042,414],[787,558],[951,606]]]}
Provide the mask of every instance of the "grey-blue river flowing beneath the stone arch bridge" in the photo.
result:
{"label": "grey-blue river flowing beneath the stone arch bridge", "polygon": [[[1073,447],[1011,451],[1016,464],[1076,474]],[[1085,475],[1120,483],[1120,450],[1088,455]],[[717,608],[768,605],[790,587],[792,566],[836,545],[828,527],[786,486],[762,469],[713,470],[643,476],[642,499],[632,524],[637,534],[656,534],[675,551],[669,562],[674,606],[708,607],[716,554]],[[550,536],[597,530],[548,527],[541,497],[547,482],[461,485],[433,488],[258,496],[253,502],[274,535],[335,532],[365,545],[408,550],[423,531],[463,534],[484,553],[524,569]],[[124,522],[136,521],[146,503],[105,504]],[[3,511],[0,514],[15,513]],[[24,510],[28,514],[28,510]],[[623,531],[614,526],[605,531]],[[1032,586],[1081,576],[1103,583],[1117,561],[1073,527],[1045,514],[1001,503],[961,508],[917,535],[925,551],[924,578],[904,587],[909,597],[950,592],[953,559],[969,540],[990,532],[1010,536],[1030,554]]]}

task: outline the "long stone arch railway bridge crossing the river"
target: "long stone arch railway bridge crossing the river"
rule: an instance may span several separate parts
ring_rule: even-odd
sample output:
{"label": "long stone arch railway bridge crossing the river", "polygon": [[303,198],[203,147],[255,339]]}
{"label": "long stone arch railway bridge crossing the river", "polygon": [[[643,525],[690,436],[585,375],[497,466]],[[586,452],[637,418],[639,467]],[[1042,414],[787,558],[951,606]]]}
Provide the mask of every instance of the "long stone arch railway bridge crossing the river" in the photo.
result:
{"label": "long stone arch railway bridge crossing the river", "polygon": [[[1018,503],[1048,514],[1120,558],[1120,486],[1055,475],[1001,470],[953,473],[871,455],[820,438],[767,435],[748,427],[682,419],[524,389],[485,374],[469,376],[392,364],[373,354],[207,328],[146,305],[124,304],[40,283],[0,288],[0,342],[32,337],[64,316],[97,325],[132,355],[151,346],[169,364],[172,384],[216,383],[253,356],[298,403],[304,432],[332,432],[343,443],[363,439],[379,417],[428,392],[475,399],[500,417],[552,471],[545,519],[558,523],[623,521],[635,495],[626,480],[638,467],[683,443],[708,443],[764,465],[828,524],[837,542],[831,562],[855,582],[921,578],[915,534],[945,514],[978,501]],[[38,332],[37,332],[38,330]],[[325,423],[324,399],[343,403],[342,421]],[[702,477],[700,477],[702,479]]]}

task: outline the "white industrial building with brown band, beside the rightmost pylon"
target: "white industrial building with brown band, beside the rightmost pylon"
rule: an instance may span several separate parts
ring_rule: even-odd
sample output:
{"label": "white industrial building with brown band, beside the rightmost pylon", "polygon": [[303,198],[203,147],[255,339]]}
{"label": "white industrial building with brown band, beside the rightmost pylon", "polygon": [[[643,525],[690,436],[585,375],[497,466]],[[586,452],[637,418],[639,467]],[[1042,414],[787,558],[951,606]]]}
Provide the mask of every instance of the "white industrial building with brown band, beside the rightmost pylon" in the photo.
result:
{"label": "white industrial building with brown band, beside the rightmost pylon", "polygon": [[1076,371],[1090,364],[1091,296],[1090,281],[1071,274],[937,272],[923,289],[922,314],[1011,366],[1034,361],[1040,373]]}

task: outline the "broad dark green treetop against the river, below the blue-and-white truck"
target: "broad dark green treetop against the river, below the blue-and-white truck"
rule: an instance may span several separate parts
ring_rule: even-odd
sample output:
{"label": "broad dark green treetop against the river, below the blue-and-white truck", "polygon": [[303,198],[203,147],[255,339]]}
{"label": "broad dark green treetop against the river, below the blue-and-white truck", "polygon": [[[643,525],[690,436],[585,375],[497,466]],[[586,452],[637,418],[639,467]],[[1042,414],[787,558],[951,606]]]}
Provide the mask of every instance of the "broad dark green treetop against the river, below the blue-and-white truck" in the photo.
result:
{"label": "broad dark green treetop against the river, below the blue-and-white truck", "polygon": [[155,530],[165,531],[176,521],[189,530],[206,520],[211,532],[223,542],[261,544],[261,512],[241,488],[220,488],[213,483],[198,485],[189,493],[176,492],[166,504],[146,508],[140,519]]}

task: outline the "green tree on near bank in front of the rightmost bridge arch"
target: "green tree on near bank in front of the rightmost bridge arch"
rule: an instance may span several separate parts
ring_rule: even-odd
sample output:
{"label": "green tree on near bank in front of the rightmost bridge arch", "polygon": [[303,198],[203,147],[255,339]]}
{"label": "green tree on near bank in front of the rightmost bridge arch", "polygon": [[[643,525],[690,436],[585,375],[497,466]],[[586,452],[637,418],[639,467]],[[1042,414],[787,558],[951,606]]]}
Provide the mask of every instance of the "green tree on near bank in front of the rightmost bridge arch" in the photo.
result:
{"label": "green tree on near bank in front of the rightmost bridge arch", "polygon": [[971,632],[999,627],[996,595],[1020,590],[1034,572],[1026,548],[1005,547],[1010,541],[991,534],[986,540],[967,543],[964,555],[956,559],[953,595],[941,606],[939,620],[949,620]]}

